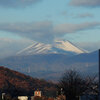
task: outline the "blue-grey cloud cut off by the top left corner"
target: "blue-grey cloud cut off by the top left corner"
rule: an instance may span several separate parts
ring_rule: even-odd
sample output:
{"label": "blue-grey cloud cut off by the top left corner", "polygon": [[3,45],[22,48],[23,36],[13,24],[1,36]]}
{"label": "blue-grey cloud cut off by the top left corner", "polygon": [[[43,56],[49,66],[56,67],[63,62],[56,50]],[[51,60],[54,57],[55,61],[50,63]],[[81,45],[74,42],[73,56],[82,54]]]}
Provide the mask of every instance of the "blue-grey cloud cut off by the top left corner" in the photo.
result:
{"label": "blue-grey cloud cut off by the top left corner", "polygon": [[0,6],[3,7],[26,7],[42,0],[0,0]]}

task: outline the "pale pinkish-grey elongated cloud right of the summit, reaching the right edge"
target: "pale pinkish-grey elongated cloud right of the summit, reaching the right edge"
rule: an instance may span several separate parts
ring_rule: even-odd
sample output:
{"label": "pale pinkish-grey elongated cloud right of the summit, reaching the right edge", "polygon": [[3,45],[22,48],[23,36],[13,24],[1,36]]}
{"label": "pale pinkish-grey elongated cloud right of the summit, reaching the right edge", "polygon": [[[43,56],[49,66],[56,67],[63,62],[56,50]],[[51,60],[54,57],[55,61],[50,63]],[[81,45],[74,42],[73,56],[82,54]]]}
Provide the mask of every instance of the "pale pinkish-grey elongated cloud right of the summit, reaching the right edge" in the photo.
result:
{"label": "pale pinkish-grey elongated cloud right of the summit, reaching the right edge", "polygon": [[78,31],[88,30],[100,26],[99,22],[85,22],[81,24],[61,24],[55,27],[57,33],[75,33]]}

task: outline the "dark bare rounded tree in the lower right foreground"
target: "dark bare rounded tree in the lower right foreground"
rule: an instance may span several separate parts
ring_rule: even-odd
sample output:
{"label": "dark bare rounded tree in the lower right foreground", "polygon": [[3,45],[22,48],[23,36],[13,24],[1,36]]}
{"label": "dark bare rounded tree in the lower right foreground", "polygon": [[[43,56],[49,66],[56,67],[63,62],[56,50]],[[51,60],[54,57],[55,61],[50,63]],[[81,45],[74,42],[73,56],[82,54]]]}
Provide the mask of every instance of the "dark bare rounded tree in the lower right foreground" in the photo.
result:
{"label": "dark bare rounded tree in the lower right foreground", "polygon": [[93,91],[94,80],[95,78],[82,77],[77,71],[70,70],[64,73],[58,88],[63,89],[67,100],[79,100],[80,96]]}

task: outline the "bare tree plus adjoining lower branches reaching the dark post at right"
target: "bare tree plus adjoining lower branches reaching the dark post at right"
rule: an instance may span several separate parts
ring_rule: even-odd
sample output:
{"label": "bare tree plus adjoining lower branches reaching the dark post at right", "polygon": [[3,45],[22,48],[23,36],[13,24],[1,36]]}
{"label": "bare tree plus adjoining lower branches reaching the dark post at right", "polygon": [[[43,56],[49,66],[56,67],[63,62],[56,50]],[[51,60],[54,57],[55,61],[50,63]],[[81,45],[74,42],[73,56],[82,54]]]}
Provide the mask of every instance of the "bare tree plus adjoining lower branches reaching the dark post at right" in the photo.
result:
{"label": "bare tree plus adjoining lower branches reaching the dark post at right", "polygon": [[75,70],[69,70],[59,80],[57,88],[58,94],[65,95],[66,100],[79,100],[86,95],[91,98],[89,100],[98,100],[97,75],[83,76]]}

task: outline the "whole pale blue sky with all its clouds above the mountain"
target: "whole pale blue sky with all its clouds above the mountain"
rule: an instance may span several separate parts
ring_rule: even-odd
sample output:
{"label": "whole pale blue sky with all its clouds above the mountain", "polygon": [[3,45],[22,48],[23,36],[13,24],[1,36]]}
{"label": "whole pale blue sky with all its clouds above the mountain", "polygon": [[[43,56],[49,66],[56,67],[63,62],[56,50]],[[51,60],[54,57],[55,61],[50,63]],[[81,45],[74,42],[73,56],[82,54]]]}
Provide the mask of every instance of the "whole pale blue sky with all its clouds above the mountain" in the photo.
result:
{"label": "whole pale blue sky with all its clouds above the mountain", "polygon": [[69,40],[100,48],[100,0],[0,0],[0,54],[15,54],[34,41]]}

